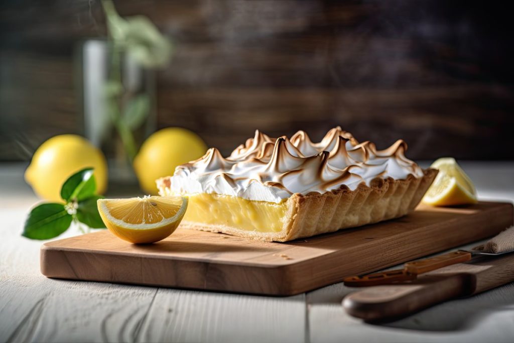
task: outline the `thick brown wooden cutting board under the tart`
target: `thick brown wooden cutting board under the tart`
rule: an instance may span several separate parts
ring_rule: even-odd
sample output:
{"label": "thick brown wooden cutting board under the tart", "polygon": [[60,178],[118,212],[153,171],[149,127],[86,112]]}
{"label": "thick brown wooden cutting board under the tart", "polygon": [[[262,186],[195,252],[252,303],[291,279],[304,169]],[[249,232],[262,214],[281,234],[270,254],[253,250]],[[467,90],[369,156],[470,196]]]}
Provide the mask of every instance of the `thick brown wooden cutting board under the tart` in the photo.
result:
{"label": "thick brown wooden cutting board under the tart", "polygon": [[510,203],[433,208],[373,225],[287,243],[177,229],[146,245],[102,230],[48,242],[41,273],[50,278],[199,290],[294,295],[473,241],[512,225]]}

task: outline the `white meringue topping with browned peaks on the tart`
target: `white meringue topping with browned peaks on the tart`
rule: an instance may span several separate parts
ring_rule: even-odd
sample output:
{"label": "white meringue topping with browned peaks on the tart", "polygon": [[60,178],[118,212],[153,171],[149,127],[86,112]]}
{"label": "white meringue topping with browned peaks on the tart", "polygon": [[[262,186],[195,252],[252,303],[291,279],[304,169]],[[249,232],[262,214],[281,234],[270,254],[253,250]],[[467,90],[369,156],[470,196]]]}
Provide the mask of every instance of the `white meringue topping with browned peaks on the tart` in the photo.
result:
{"label": "white meringue topping with browned peaks on the tart", "polygon": [[359,143],[334,128],[319,143],[304,131],[287,138],[255,136],[224,158],[215,148],[204,157],[178,166],[171,177],[175,194],[215,193],[280,203],[294,193],[324,193],[343,185],[354,190],[374,178],[422,177],[423,170],[406,158],[407,144],[396,141],[385,150]]}

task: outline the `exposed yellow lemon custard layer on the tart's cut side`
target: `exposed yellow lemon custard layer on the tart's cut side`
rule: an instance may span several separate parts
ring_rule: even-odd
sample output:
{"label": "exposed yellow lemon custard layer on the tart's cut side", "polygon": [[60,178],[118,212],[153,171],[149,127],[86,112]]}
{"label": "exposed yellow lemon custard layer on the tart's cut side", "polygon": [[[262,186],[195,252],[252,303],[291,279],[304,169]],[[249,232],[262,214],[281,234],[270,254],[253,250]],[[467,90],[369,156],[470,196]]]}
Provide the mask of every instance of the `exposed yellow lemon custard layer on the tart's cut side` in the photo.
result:
{"label": "exposed yellow lemon custard layer on the tart's cut side", "polygon": [[269,203],[208,193],[192,194],[188,197],[185,221],[226,225],[258,232],[279,232],[284,226],[286,201]]}

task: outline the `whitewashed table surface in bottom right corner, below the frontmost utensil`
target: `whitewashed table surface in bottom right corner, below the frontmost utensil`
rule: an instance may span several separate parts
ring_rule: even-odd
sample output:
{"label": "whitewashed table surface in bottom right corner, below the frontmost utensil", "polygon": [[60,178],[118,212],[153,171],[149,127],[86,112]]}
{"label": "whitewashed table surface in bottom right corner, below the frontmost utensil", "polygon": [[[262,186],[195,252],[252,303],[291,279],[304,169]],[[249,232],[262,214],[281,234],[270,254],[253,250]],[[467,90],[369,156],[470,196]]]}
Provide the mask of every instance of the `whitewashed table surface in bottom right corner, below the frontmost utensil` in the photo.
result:
{"label": "whitewashed table surface in bottom right corner, below the frontmost utensil", "polygon": [[310,342],[503,343],[514,335],[514,283],[380,325],[366,324],[344,311],[341,300],[355,290],[339,283],[307,295]]}

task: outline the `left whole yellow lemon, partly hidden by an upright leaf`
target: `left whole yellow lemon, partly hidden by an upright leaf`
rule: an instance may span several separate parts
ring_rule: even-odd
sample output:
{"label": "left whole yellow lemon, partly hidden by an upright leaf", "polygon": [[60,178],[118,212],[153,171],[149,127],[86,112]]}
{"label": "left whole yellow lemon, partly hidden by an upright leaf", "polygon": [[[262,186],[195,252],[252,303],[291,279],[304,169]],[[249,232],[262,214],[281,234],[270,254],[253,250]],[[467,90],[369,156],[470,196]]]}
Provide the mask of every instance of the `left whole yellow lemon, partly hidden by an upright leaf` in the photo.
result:
{"label": "left whole yellow lemon, partly hidden by an upright leaf", "polygon": [[81,136],[54,136],[35,151],[25,180],[39,197],[62,202],[61,187],[66,179],[86,167],[95,169],[97,192],[105,192],[107,163],[102,152]]}

